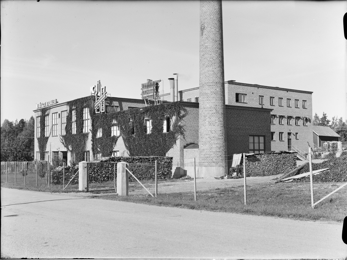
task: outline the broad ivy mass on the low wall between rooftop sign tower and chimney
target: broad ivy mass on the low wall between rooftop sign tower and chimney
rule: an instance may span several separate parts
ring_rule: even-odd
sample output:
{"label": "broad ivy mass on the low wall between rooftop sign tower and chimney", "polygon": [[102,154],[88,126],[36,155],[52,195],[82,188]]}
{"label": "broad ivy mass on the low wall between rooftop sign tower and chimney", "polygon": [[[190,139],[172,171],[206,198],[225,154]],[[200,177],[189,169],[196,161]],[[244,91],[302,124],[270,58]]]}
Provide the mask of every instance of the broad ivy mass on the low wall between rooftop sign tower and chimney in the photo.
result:
{"label": "broad ivy mass on the low wall between rooftop sign tower and chimney", "polygon": [[[92,127],[93,153],[101,152],[102,156],[111,156],[118,139],[111,136],[111,126],[118,125],[129,156],[166,156],[176,144],[178,136],[184,136],[183,126],[179,123],[186,113],[187,110],[180,102],[170,102],[95,115]],[[170,118],[171,127],[168,133],[163,133],[163,122],[167,117]],[[146,133],[146,119],[152,119],[150,134]],[[102,128],[102,137],[95,138],[99,128]]]}

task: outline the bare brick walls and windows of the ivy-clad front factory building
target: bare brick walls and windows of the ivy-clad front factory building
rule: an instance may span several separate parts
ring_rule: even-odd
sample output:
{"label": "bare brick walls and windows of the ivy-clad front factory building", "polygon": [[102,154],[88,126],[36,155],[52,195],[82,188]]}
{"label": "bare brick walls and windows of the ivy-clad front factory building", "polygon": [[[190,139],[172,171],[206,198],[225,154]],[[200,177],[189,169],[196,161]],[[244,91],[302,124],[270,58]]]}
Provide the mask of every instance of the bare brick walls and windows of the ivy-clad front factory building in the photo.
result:
{"label": "bare brick walls and windows of the ivy-clad front factory building", "polygon": [[[189,90],[188,90],[189,91]],[[180,92],[181,93],[181,92]],[[93,99],[93,96],[90,96]],[[197,99],[195,99],[198,101]],[[73,151],[68,151],[65,148],[62,137],[66,134],[66,125],[67,121],[70,118],[70,124],[72,124],[72,134],[76,133],[76,112],[74,109],[69,108],[69,102],[57,103],[57,102],[46,102],[43,106],[40,105],[40,108],[34,110],[35,114],[35,159],[40,159],[40,149],[39,149],[39,137],[46,136],[47,143],[44,149],[44,158],[48,159],[48,156],[51,158],[54,156],[59,156],[63,158],[67,163],[75,158]],[[105,100],[104,114],[113,114],[124,110],[129,109],[142,109],[144,107],[150,106],[165,106],[165,104],[171,103],[169,101],[163,101],[163,104],[154,104],[153,100],[144,101],[143,99],[127,99],[127,98],[116,98],[108,97]],[[174,157],[173,169],[174,172],[176,167],[178,169],[184,169],[184,163],[188,159],[191,159],[191,156],[186,156],[184,148],[189,144],[198,144],[199,140],[199,103],[198,102],[189,102],[189,101],[179,101],[180,106],[186,110],[186,116],[180,122],[180,125],[184,129],[184,135],[179,135],[176,144],[168,150],[166,156]],[[93,101],[94,104],[94,101]],[[46,109],[45,115],[42,117],[42,107]],[[245,107],[245,106],[235,106],[229,105],[226,106],[226,140],[227,140],[227,155],[228,159],[231,159],[232,154],[234,153],[243,153],[243,152],[269,152],[271,151],[271,125],[268,120],[271,115],[271,108],[259,108],[259,107]],[[70,113],[70,115],[69,115]],[[70,117],[69,117],[70,116]],[[101,116],[101,114],[96,114],[95,118]],[[40,124],[40,118],[44,118],[44,131]],[[42,120],[42,119],[41,119]],[[101,154],[93,154],[92,151],[92,118],[90,111],[87,107],[83,109],[83,118],[81,117],[79,122],[83,124],[82,132],[87,135],[85,151],[83,151],[83,160],[91,161],[95,159],[100,159]],[[150,118],[146,118],[147,124]],[[171,119],[173,120],[173,119]],[[237,122],[233,124],[232,122]],[[169,132],[171,122],[163,122],[167,125],[168,128],[163,128],[164,131]],[[152,127],[151,125],[149,127]],[[74,132],[75,131],[75,132]],[[102,132],[96,135],[96,139],[102,136]],[[151,130],[148,134],[151,134]],[[112,153],[108,156],[128,156],[129,152],[124,143],[122,137],[122,132],[120,131],[117,125],[112,125],[111,135],[119,136],[119,139],[116,145],[113,147]],[[136,135],[136,132],[134,132]],[[311,134],[312,136],[312,134]],[[259,148],[258,151],[249,150],[249,138],[252,137],[252,145],[255,145]],[[155,155],[155,154],[153,154]],[[198,161],[198,154],[196,156],[196,161]],[[202,177],[202,176],[201,176]]]}

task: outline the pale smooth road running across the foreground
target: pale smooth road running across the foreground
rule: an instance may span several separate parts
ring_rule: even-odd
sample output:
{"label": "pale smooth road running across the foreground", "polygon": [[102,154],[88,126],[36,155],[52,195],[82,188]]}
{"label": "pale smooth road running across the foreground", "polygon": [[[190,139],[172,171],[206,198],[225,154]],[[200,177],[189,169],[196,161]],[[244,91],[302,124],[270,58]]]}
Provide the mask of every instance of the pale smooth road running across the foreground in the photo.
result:
{"label": "pale smooth road running across the foreground", "polygon": [[89,195],[1,188],[1,257],[347,257],[339,223],[83,197]]}

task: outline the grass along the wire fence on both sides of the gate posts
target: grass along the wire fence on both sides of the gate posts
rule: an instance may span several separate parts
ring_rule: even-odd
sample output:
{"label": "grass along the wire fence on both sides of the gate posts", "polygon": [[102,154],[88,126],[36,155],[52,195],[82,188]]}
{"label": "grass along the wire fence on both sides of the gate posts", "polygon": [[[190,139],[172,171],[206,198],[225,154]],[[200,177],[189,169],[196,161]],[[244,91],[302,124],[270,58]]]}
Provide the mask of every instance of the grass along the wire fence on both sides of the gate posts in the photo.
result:
{"label": "grass along the wire fence on both sides of the gate posts", "polygon": [[[62,184],[51,185],[48,188],[46,178],[38,178],[38,185],[36,186],[35,173],[28,173],[25,186],[22,175],[17,174],[16,184],[14,183],[14,174],[11,178],[8,176],[8,183],[6,183],[6,174],[1,174],[1,187],[43,192],[63,192]],[[149,194],[146,194],[137,182],[129,182],[129,196],[127,197],[118,196],[114,192],[93,192],[89,194],[98,199],[300,220],[341,222],[347,215],[347,187],[334,193],[312,209],[310,183],[290,182],[247,185],[247,206],[245,206],[243,185],[240,184],[230,183],[228,187],[213,187],[204,191],[198,191],[197,201],[194,201],[193,189],[184,190],[182,188],[187,184],[190,187],[193,182],[187,183],[187,180],[166,180],[165,183],[161,182],[163,180],[158,182],[159,194],[157,198],[152,198]],[[143,184],[154,194],[154,181],[145,181]],[[169,184],[170,186],[167,186]],[[342,184],[334,182],[313,183],[314,201],[320,200]],[[114,183],[112,181],[91,183],[89,187],[94,190],[109,189],[114,187]],[[78,185],[69,184],[65,192],[79,192]]]}

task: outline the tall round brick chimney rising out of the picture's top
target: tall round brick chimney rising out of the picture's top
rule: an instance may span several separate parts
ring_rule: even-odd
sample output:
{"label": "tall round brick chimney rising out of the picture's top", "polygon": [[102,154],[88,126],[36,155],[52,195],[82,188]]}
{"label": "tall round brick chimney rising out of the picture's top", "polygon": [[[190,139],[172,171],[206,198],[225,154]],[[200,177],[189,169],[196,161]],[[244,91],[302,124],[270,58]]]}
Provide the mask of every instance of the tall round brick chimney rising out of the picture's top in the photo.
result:
{"label": "tall round brick chimney rising out of the picture's top", "polygon": [[227,173],[222,1],[200,1],[199,177]]}

